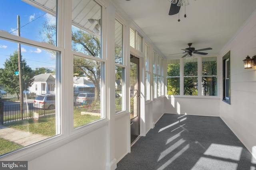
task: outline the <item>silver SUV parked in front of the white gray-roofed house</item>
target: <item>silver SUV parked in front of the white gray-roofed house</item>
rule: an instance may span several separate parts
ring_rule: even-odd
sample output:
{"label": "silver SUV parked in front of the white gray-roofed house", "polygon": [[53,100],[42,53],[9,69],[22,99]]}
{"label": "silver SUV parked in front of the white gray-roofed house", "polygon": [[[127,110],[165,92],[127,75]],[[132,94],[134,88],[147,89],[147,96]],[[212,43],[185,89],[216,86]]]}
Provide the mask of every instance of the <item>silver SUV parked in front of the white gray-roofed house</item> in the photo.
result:
{"label": "silver SUV parked in front of the white gray-roofed house", "polygon": [[33,106],[40,109],[55,109],[55,94],[38,95],[34,100]]}

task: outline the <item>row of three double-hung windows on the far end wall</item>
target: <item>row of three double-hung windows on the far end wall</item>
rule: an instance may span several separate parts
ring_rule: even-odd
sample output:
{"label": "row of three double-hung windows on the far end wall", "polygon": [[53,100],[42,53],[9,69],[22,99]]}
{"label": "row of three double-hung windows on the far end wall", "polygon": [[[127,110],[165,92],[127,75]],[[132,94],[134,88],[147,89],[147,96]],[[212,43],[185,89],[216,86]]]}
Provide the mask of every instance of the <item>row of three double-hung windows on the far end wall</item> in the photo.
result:
{"label": "row of three double-hung windows on the far end wall", "polygon": [[218,96],[217,57],[167,61],[167,94]]}

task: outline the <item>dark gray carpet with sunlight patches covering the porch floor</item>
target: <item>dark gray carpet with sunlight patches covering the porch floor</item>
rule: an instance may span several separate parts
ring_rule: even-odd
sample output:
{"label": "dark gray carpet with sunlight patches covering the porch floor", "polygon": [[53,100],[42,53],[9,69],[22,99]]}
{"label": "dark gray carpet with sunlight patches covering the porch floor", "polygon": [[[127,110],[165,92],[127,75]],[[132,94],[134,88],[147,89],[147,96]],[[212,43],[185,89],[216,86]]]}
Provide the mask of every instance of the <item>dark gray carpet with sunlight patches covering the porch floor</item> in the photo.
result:
{"label": "dark gray carpet with sunlight patches covering the porch floor", "polygon": [[164,114],[116,170],[256,170],[220,117]]}

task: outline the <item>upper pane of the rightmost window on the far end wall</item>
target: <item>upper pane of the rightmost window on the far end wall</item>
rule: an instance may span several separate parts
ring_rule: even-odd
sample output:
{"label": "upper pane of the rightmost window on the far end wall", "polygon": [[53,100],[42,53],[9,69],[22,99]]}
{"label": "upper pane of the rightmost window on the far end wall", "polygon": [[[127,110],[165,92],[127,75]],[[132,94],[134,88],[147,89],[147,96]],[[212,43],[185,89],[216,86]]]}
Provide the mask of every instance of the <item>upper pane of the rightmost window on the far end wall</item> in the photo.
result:
{"label": "upper pane of the rightmost window on the far end wall", "polygon": [[202,75],[217,75],[217,57],[202,57]]}

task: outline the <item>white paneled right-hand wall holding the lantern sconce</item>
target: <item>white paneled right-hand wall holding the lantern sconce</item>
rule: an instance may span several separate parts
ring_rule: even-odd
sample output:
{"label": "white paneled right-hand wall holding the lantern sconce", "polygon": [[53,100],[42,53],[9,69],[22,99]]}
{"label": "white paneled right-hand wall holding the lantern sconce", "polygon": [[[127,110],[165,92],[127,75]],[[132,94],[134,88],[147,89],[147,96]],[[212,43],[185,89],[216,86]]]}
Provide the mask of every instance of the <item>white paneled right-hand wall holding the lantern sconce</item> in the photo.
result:
{"label": "white paneled right-hand wall holding the lantern sconce", "polygon": [[220,117],[252,152],[252,147],[256,146],[256,66],[244,69],[242,60],[247,55],[256,55],[256,11],[222,49],[220,59],[228,51],[231,62],[231,104],[220,100]]}

